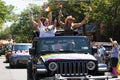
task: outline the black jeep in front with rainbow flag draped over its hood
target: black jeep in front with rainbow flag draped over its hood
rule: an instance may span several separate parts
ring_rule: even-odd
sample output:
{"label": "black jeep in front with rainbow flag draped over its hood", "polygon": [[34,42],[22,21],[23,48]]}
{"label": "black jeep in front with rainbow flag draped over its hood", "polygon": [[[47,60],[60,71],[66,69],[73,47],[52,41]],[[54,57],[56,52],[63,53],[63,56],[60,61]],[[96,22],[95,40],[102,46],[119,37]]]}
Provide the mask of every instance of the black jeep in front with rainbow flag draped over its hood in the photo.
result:
{"label": "black jeep in front with rainbow flag draped over its hood", "polygon": [[101,71],[86,36],[35,37],[32,45],[27,80],[90,79]]}

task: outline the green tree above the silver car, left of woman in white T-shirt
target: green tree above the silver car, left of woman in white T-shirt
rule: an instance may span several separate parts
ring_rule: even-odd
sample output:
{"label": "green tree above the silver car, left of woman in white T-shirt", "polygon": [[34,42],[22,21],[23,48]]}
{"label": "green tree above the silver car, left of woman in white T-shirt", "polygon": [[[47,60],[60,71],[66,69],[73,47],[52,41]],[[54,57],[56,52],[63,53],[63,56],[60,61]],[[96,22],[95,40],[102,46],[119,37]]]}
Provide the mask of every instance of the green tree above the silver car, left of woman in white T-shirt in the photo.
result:
{"label": "green tree above the silver car, left of woman in white T-shirt", "polygon": [[[40,6],[32,6],[33,17],[37,21]],[[16,42],[31,42],[33,31],[36,30],[29,19],[29,7],[21,12],[18,20],[10,27],[11,35],[15,37]]]}

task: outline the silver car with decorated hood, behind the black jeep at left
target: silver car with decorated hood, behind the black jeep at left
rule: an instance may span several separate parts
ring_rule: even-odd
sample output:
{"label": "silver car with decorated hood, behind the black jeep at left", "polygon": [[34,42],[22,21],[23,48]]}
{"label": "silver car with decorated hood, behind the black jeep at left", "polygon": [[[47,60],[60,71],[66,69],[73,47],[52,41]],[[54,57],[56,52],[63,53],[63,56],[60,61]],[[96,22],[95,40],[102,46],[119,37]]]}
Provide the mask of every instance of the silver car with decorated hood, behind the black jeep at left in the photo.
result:
{"label": "silver car with decorated hood, behind the black jeep at left", "polygon": [[31,43],[16,43],[12,48],[12,55],[9,58],[9,66],[11,68],[17,67],[20,65],[26,65],[29,55],[29,48],[31,48]]}

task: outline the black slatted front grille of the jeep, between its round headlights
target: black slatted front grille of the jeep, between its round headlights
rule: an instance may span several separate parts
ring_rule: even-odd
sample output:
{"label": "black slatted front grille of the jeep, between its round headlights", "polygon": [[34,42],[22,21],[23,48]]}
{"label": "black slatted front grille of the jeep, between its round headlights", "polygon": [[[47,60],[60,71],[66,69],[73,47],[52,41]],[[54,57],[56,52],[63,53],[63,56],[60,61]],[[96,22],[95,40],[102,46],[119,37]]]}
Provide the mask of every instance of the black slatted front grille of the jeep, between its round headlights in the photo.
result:
{"label": "black slatted front grille of the jeep, between its round headlights", "polygon": [[87,61],[57,62],[57,73],[62,76],[83,76],[88,74]]}

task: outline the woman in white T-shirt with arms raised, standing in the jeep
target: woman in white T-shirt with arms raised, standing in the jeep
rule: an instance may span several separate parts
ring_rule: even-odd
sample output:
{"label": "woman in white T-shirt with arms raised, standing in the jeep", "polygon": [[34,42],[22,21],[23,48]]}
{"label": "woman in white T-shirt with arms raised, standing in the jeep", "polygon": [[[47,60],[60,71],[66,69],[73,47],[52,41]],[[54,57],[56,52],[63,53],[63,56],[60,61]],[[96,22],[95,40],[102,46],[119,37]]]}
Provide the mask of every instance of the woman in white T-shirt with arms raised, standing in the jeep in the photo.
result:
{"label": "woman in white T-shirt with arms raised, standing in the jeep", "polygon": [[38,16],[38,22],[36,22],[32,17],[32,12],[30,11],[30,21],[33,26],[40,31],[39,37],[52,37],[55,36],[56,32],[56,19],[54,20],[54,24],[52,23],[52,13],[49,12],[49,18],[41,17],[42,12],[44,10],[40,10]]}

